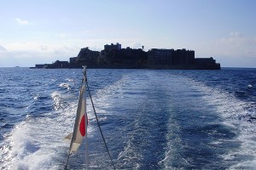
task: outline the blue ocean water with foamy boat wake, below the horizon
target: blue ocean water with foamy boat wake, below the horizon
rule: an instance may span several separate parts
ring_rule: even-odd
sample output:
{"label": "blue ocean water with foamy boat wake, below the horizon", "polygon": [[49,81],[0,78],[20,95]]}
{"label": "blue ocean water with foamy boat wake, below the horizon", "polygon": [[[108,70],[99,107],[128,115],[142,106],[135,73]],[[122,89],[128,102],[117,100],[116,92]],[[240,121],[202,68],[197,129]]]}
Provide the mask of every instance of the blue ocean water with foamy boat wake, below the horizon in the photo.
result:
{"label": "blue ocean water with foamy boat wake, below the horizon", "polygon": [[[256,69],[87,75],[117,169],[255,169]],[[0,68],[0,169],[63,169],[82,77]],[[90,169],[112,169],[89,99],[87,108]],[[67,169],[86,167],[84,148]]]}

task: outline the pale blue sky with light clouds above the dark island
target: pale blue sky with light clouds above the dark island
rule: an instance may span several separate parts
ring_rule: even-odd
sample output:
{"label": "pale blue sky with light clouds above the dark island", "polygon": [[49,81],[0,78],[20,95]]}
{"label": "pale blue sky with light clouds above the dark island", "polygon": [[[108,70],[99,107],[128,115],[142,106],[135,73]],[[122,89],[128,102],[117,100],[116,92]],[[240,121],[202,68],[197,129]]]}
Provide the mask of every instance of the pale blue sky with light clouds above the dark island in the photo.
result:
{"label": "pale blue sky with light clouds above the dark island", "polygon": [[0,0],[0,67],[68,61],[119,42],[255,68],[255,8],[255,0]]}

